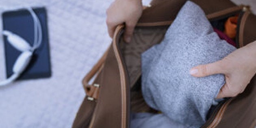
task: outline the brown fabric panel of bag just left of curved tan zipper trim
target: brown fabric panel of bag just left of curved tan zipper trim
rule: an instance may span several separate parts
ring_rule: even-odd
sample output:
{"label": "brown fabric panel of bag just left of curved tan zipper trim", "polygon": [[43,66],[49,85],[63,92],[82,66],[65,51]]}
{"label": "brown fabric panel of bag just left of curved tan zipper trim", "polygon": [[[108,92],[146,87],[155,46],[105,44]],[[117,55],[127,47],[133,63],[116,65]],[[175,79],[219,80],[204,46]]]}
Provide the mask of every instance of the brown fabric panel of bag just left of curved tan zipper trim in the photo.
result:
{"label": "brown fabric panel of bag just left of curved tan zipper trim", "polygon": [[100,74],[96,81],[100,85],[99,96],[89,128],[121,128],[121,75],[113,43]]}

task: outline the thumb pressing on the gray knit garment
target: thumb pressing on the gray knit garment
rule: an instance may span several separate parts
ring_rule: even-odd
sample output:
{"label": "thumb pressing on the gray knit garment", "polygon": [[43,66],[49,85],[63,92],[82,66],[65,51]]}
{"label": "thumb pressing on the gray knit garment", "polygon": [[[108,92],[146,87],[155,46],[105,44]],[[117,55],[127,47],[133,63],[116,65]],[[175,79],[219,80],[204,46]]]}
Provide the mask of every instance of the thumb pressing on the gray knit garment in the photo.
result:
{"label": "thumb pressing on the gray knit garment", "polygon": [[198,65],[190,69],[190,74],[195,77],[204,77],[224,73],[222,63],[222,61],[217,61],[206,65]]}

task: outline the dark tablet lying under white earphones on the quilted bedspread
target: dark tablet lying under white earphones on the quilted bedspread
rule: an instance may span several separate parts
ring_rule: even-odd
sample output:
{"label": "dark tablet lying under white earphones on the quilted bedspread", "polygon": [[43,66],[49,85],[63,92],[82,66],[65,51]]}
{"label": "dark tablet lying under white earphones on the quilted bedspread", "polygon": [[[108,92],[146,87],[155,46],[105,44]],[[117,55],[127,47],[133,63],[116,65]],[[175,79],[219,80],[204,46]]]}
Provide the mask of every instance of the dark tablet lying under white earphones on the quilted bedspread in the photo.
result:
{"label": "dark tablet lying under white earphones on the quilted bedspread", "polygon": [[[32,59],[26,67],[26,70],[18,79],[46,78],[51,76],[50,52],[48,41],[47,15],[44,7],[33,9],[42,26],[42,43],[34,51]],[[3,30],[9,30],[12,33],[24,38],[30,46],[34,43],[34,21],[31,14],[26,9],[16,11],[6,11],[2,13]],[[22,53],[7,41],[4,36],[4,50],[6,62],[6,74],[9,78],[13,74],[13,65],[18,56]]]}

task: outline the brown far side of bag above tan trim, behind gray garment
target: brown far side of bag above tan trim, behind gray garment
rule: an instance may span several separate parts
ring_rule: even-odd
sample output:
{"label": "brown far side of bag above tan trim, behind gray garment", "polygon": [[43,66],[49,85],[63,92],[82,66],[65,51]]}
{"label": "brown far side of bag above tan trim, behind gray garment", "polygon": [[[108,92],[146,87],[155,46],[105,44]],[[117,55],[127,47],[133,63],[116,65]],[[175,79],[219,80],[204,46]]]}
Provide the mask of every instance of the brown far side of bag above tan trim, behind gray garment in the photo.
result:
{"label": "brown far side of bag above tan trim, behind gray garment", "polygon": [[[187,0],[153,0],[151,7],[144,9],[138,23],[173,21]],[[237,7],[230,0],[191,0],[199,5],[206,15]],[[218,3],[218,4],[217,4]],[[166,13],[171,12],[171,13]]]}

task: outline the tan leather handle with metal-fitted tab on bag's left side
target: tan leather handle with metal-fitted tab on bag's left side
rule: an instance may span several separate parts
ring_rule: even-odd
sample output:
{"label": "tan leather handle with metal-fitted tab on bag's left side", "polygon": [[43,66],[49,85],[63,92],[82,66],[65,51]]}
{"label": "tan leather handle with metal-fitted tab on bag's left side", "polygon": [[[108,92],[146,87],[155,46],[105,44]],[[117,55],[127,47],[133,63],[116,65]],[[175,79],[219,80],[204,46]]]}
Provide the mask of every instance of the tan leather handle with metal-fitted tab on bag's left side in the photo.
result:
{"label": "tan leather handle with metal-fitted tab on bag's left side", "polygon": [[[108,48],[108,50],[109,50],[109,48]],[[99,73],[100,70],[102,69],[104,62],[106,60],[106,56],[108,54],[108,50],[106,50],[106,52],[104,52],[104,54],[99,59],[99,61],[93,66],[93,68],[87,73],[87,75],[82,80],[82,84],[85,89],[85,93],[88,96],[87,97],[88,100],[94,100],[94,99],[97,100],[98,99],[98,92],[99,92],[98,90],[99,90],[100,85],[98,85],[98,84],[89,85],[89,81],[93,78],[93,76],[95,76],[97,73]]]}

